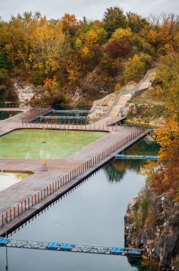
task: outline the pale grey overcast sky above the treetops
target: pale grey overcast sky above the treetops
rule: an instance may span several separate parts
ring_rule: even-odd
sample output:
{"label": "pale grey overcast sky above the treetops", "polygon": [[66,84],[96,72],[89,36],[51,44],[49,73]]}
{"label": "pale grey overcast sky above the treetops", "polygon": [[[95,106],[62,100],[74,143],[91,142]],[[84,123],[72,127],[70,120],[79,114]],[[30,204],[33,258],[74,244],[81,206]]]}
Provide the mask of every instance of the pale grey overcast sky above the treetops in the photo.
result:
{"label": "pale grey overcast sky above the treetops", "polygon": [[60,19],[65,12],[75,14],[77,19],[102,19],[109,6],[120,6],[124,11],[132,11],[142,16],[161,14],[161,12],[178,13],[178,0],[0,0],[0,16],[8,21],[24,11],[40,11],[48,19]]}

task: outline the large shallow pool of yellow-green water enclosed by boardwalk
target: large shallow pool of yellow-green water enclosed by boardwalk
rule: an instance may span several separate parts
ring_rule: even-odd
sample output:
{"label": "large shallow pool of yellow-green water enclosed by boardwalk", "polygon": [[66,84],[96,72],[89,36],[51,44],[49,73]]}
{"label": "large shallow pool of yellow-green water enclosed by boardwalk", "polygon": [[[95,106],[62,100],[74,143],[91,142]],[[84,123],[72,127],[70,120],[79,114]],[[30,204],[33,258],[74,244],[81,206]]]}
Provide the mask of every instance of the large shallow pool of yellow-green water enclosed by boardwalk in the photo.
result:
{"label": "large shallow pool of yellow-green water enclosed by boardwalk", "polygon": [[57,159],[107,133],[86,131],[55,131],[20,129],[0,137],[0,157]]}

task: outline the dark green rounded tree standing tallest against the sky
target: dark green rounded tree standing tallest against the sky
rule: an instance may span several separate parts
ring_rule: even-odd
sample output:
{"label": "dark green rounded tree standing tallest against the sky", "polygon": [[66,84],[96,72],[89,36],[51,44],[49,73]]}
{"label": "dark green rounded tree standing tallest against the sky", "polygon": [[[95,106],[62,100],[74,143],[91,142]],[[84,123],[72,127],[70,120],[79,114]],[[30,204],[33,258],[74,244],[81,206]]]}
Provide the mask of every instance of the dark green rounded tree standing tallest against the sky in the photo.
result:
{"label": "dark green rounded tree standing tallest against the sky", "polygon": [[118,6],[110,7],[104,12],[103,18],[104,29],[107,31],[108,36],[119,28],[126,27],[126,17],[123,9]]}

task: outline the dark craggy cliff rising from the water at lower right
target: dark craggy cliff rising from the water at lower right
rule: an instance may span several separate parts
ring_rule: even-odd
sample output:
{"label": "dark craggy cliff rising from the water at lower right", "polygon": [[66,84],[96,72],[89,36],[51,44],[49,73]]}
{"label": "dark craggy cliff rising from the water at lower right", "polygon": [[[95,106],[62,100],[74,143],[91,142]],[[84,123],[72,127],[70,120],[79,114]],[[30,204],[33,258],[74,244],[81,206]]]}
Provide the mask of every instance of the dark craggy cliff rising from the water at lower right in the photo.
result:
{"label": "dark craggy cliff rising from the water at lower right", "polygon": [[143,255],[161,270],[179,270],[179,205],[143,188],[128,205],[125,229],[129,245],[143,244]]}

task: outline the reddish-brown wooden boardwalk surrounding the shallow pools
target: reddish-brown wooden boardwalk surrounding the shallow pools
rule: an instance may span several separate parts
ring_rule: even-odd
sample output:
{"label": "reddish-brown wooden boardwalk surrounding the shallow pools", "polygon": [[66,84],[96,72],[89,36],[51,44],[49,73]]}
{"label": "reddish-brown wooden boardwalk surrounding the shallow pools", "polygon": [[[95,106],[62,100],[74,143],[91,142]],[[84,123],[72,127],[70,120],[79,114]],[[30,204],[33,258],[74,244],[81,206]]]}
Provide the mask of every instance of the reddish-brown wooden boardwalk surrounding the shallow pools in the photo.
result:
{"label": "reddish-brown wooden boardwalk surrounding the shallow pools", "polygon": [[[40,124],[24,125],[21,123],[21,114],[18,118],[0,121],[0,136],[17,128],[43,128]],[[111,160],[116,153],[148,133],[147,130],[139,128],[109,127],[105,123],[106,120],[87,126],[45,126],[53,129],[109,132],[107,136],[89,143],[66,158],[48,160],[48,171],[42,171],[42,160],[0,158],[0,170],[33,172],[26,180],[21,180],[0,192],[0,236],[4,235],[6,227],[8,232],[15,229]],[[8,220],[6,226],[4,218]]]}

